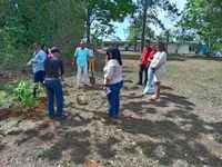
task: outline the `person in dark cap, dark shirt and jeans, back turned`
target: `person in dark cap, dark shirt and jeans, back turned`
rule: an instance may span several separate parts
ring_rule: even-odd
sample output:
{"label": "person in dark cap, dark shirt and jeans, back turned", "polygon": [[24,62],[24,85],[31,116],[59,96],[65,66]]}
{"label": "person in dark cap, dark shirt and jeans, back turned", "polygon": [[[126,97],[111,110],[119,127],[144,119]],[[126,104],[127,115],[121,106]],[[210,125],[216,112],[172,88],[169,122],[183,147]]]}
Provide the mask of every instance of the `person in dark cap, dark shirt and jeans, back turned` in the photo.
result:
{"label": "person in dark cap, dark shirt and jeans, back turned", "polygon": [[[60,77],[64,73],[63,62],[60,57],[60,49],[53,47],[51,57],[44,61],[46,79],[44,85],[48,94],[48,110],[50,118],[63,119],[63,91]],[[54,97],[57,100],[57,114],[54,114]]]}

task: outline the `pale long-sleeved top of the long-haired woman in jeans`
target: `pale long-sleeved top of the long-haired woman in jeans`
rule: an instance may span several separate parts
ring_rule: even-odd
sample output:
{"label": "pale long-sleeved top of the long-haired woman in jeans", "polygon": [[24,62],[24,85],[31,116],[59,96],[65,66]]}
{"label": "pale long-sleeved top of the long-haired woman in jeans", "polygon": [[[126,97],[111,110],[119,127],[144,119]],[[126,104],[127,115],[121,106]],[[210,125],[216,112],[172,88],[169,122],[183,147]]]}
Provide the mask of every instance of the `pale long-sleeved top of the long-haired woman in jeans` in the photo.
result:
{"label": "pale long-sleeved top of the long-haired woman in jeans", "polygon": [[111,59],[103,68],[104,79],[110,80],[110,85],[122,81],[122,66],[115,59]]}

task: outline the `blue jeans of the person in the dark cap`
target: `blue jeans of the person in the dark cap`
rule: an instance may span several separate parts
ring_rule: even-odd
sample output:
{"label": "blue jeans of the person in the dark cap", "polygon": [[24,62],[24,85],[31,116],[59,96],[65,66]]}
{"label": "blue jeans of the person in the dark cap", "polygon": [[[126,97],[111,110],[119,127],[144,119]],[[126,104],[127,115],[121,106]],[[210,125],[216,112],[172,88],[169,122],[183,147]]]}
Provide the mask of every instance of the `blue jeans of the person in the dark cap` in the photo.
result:
{"label": "blue jeans of the person in the dark cap", "polygon": [[[61,118],[63,116],[63,92],[61,81],[58,80],[47,80],[44,81],[48,94],[48,109],[49,116]],[[54,96],[57,99],[57,115],[54,115]]]}

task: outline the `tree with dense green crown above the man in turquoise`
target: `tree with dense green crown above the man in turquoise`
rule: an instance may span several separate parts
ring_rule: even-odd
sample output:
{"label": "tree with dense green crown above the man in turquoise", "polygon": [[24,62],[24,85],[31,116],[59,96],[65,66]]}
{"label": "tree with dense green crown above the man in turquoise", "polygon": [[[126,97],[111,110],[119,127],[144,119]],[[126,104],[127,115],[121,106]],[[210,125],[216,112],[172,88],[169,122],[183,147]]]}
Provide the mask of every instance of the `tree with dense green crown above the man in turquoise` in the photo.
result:
{"label": "tree with dense green crown above the man in turquoise", "polygon": [[91,29],[97,20],[101,26],[112,27],[111,21],[123,21],[135,10],[133,0],[84,0],[87,42],[90,43]]}

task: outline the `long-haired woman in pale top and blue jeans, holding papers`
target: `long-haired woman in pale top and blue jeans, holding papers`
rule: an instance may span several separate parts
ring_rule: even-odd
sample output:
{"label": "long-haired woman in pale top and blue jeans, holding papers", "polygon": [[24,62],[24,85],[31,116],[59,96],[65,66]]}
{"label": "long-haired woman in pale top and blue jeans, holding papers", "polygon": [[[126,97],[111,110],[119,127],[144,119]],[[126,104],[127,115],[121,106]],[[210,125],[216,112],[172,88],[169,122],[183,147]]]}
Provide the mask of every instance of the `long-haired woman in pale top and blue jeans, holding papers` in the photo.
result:
{"label": "long-haired woman in pale top and blue jeans, holding papers", "polygon": [[110,89],[108,94],[109,117],[105,124],[109,125],[113,118],[118,118],[120,108],[120,89],[123,86],[122,80],[122,60],[118,48],[113,47],[108,50],[107,63],[103,68],[104,86],[103,90]]}

